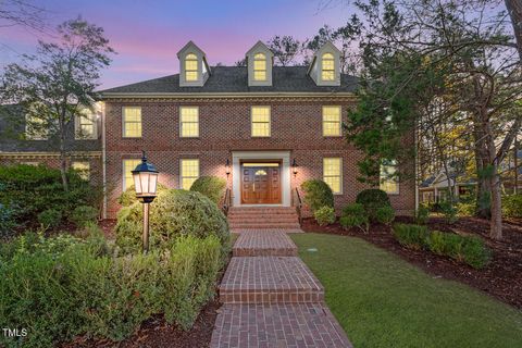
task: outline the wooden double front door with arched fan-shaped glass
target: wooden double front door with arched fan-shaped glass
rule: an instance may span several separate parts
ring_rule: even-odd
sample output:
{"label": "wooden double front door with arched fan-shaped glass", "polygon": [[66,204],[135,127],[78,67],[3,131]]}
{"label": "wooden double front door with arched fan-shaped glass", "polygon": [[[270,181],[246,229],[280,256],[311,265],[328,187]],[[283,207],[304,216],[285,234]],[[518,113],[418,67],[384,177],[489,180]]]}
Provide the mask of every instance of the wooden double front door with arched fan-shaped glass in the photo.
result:
{"label": "wooden double front door with arched fan-shaped glass", "polygon": [[279,204],[279,163],[241,164],[241,203]]}

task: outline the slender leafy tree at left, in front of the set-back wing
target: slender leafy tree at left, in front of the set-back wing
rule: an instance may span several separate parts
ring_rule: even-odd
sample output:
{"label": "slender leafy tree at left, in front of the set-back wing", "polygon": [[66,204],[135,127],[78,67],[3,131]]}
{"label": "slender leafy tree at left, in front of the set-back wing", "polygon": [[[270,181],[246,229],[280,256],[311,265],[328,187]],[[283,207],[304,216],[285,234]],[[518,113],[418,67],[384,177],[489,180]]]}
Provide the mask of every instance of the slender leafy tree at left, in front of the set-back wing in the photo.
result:
{"label": "slender leafy tree at left, in front of the set-back wing", "polygon": [[29,126],[55,137],[64,189],[70,149],[67,126],[92,109],[100,70],[111,62],[113,49],[103,29],[80,17],[58,26],[58,41],[38,42],[35,55],[4,70],[0,102],[17,103],[27,112]]}

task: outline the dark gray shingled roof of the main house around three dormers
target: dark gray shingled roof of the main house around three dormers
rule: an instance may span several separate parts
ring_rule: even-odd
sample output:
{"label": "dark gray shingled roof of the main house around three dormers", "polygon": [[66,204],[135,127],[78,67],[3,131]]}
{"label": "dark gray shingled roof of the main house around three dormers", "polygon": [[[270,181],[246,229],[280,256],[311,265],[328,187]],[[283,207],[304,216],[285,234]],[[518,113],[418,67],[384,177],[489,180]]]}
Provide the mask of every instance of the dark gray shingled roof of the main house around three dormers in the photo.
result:
{"label": "dark gray shingled roof of the main house around three dormers", "polygon": [[213,66],[203,87],[179,87],[179,74],[114,87],[100,91],[115,94],[175,94],[175,92],[352,92],[358,79],[340,75],[340,86],[316,86],[307,74],[307,66],[274,66],[272,86],[248,86],[246,66]]}

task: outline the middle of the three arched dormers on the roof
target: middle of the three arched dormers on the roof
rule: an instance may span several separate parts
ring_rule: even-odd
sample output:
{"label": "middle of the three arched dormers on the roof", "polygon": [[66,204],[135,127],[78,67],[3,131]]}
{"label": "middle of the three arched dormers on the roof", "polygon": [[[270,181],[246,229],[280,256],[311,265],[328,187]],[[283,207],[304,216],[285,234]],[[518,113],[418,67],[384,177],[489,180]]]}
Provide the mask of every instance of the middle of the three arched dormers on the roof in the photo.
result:
{"label": "middle of the three arched dormers on the roof", "polygon": [[248,86],[272,86],[274,53],[261,41],[247,52]]}

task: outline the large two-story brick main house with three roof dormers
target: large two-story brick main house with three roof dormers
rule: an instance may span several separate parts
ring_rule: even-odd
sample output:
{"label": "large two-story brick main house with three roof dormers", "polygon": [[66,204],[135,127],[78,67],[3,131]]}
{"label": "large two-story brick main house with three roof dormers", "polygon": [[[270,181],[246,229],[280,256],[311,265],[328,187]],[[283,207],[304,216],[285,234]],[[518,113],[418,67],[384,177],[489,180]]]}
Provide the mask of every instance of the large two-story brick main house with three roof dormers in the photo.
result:
{"label": "large two-story brick main house with three roof dormers", "polygon": [[[169,187],[188,189],[201,175],[227,178],[236,207],[291,206],[295,188],[322,178],[339,211],[368,188],[357,179],[362,154],[341,126],[356,102],[357,78],[340,73],[333,44],[310,66],[273,66],[273,53],[261,41],[246,53],[247,66],[211,67],[191,41],[177,57],[179,74],[101,91],[104,171],[113,187],[108,217],[133,184],[141,150]],[[393,173],[394,165],[383,173]],[[382,188],[399,214],[414,210],[412,182],[383,174]]]}

